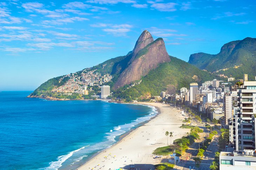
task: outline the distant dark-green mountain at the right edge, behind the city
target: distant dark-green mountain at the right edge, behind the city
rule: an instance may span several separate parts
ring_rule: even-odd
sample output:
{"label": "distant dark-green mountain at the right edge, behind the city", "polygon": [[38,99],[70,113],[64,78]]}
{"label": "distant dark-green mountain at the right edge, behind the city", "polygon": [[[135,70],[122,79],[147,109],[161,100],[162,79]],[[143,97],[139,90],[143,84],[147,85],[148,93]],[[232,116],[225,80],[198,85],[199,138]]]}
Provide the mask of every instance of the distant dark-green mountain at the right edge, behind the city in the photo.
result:
{"label": "distant dark-green mountain at the right edge, behind the city", "polygon": [[243,74],[256,75],[256,38],[244,38],[224,44],[218,54],[195,53],[189,63],[200,69],[241,79]]}

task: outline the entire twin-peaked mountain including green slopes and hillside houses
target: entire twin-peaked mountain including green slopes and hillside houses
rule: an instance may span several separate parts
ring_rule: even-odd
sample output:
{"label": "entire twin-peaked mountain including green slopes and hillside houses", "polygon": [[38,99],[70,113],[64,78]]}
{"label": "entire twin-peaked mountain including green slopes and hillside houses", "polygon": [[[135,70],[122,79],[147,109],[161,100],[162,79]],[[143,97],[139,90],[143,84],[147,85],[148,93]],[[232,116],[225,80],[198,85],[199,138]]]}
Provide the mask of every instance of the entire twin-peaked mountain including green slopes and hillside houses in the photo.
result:
{"label": "entire twin-peaked mountain including green slopes and hillside houses", "polygon": [[[89,99],[100,95],[99,86],[109,85],[112,96],[141,100],[152,95],[176,93],[189,83],[221,79],[168,55],[162,38],[153,39],[145,30],[133,51],[76,73],[55,77],[41,84],[28,97],[45,99]],[[89,86],[94,82],[94,86]],[[87,87],[88,86],[88,87]],[[89,91],[85,94],[85,88]]]}

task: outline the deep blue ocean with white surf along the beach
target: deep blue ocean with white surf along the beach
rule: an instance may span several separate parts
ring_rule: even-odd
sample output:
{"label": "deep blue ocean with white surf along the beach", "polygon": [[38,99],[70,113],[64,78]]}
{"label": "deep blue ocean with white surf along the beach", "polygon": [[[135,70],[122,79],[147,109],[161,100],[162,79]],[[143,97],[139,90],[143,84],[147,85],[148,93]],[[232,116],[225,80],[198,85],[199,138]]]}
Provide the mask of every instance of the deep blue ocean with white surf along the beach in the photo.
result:
{"label": "deep blue ocean with white surf along the beach", "polygon": [[0,169],[76,169],[157,113],[106,101],[47,101],[0,92]]}

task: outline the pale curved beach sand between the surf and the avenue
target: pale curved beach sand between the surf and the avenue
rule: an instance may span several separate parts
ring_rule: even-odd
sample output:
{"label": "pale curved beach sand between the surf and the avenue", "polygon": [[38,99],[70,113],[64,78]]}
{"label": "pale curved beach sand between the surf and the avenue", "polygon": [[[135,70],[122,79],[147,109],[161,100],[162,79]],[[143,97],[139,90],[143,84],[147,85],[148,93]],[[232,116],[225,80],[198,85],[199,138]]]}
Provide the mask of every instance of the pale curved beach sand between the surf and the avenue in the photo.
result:
{"label": "pale curved beach sand between the surf and the avenue", "polygon": [[[182,125],[184,116],[181,111],[162,103],[141,103],[155,106],[160,112],[148,123],[136,128],[119,142],[107,148],[95,157],[90,159],[79,170],[116,170],[119,168],[130,169],[130,164],[135,169],[154,169],[154,165],[163,162],[160,159],[153,159],[152,152],[158,148],[167,146],[166,131],[173,132],[171,142],[186,135],[190,129],[179,128]],[[168,137],[170,145],[170,137]]]}

